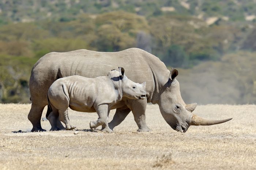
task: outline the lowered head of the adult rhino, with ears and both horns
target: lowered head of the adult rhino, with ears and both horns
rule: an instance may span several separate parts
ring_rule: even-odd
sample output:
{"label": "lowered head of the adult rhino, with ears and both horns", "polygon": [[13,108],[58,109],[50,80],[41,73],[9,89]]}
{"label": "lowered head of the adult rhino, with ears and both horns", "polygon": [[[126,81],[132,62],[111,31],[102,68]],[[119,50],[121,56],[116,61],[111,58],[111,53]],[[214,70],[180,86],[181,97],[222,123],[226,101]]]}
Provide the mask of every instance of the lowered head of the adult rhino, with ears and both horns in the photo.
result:
{"label": "lowered head of the adult rhino, with ears and both horns", "polygon": [[160,91],[158,101],[160,112],[170,127],[179,132],[186,132],[191,125],[214,125],[232,119],[207,120],[193,114],[197,104],[184,103],[180,94],[180,84],[176,80],[177,75],[178,70],[172,69],[169,80]]}

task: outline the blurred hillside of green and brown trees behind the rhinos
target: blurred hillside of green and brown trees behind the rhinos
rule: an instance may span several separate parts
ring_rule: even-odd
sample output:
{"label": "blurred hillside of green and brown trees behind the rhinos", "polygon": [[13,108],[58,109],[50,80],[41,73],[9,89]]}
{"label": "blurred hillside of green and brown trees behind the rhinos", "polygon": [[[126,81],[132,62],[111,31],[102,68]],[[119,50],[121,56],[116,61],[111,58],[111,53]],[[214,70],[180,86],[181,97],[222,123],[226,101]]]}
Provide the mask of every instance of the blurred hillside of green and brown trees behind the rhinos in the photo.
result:
{"label": "blurred hillside of green and brown trees behind the rhinos", "polygon": [[0,103],[29,103],[44,54],[138,47],[179,70],[187,103],[256,103],[254,0],[1,0]]}

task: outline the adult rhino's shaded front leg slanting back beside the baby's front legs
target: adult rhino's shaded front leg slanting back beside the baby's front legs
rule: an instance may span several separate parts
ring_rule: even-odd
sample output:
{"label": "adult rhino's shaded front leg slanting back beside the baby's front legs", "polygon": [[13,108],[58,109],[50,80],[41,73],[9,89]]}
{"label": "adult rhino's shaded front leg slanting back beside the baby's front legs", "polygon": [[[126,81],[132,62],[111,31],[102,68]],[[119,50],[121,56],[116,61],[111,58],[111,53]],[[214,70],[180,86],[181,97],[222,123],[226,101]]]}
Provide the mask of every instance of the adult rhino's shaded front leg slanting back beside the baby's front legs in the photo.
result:
{"label": "adult rhino's shaded front leg slanting back beside the baby's front legs", "polygon": [[117,108],[113,120],[109,123],[109,128],[113,130],[114,127],[119,125],[130,112],[131,109],[127,107]]}

